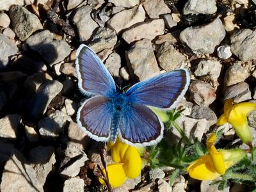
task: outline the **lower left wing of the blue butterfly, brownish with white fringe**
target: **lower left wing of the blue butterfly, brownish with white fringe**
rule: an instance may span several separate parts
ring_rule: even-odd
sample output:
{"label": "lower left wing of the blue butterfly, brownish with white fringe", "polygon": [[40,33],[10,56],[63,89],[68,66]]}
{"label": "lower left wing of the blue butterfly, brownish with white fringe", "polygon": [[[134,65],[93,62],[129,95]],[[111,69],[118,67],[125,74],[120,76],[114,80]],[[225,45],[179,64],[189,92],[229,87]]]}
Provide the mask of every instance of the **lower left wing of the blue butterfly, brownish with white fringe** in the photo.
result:
{"label": "lower left wing of the blue butterfly, brownish with white fringe", "polygon": [[77,111],[77,123],[97,141],[109,140],[112,118],[109,99],[100,95],[86,100]]}

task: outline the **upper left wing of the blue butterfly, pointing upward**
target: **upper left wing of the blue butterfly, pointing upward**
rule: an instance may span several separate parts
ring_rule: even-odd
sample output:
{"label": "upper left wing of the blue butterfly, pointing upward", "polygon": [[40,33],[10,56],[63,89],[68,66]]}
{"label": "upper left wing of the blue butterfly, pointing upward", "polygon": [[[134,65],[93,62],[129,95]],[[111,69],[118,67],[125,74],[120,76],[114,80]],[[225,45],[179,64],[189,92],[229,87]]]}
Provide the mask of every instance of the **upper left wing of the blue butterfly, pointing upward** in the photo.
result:
{"label": "upper left wing of the blue butterfly, pointing upward", "polygon": [[88,46],[81,44],[76,54],[78,86],[86,95],[111,95],[116,92],[115,81],[107,68]]}

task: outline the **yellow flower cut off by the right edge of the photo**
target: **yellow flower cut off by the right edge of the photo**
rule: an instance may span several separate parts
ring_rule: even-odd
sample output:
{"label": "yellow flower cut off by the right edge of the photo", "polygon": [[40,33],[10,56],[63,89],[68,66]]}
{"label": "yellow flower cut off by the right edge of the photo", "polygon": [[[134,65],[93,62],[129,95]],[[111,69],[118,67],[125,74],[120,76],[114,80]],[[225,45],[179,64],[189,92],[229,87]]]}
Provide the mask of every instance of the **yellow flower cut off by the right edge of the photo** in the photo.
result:
{"label": "yellow flower cut off by the right edge of the photo", "polygon": [[230,123],[237,135],[247,145],[252,145],[252,133],[247,123],[247,113],[256,110],[256,104],[251,102],[241,102],[233,104],[231,99],[225,100],[224,113],[218,119],[217,125]]}

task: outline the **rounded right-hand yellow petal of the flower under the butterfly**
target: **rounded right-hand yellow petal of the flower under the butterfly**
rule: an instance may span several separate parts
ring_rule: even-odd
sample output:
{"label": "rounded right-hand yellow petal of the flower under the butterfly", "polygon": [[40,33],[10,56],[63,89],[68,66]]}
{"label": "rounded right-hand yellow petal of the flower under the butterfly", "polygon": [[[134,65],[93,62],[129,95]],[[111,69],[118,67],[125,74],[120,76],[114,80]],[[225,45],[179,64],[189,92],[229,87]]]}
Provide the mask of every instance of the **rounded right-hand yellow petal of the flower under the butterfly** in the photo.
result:
{"label": "rounded right-hand yellow petal of the flower under the butterfly", "polygon": [[123,163],[124,171],[127,177],[135,179],[136,177],[138,177],[138,175],[140,175],[141,157],[135,147],[130,146],[129,148],[127,148],[124,155]]}

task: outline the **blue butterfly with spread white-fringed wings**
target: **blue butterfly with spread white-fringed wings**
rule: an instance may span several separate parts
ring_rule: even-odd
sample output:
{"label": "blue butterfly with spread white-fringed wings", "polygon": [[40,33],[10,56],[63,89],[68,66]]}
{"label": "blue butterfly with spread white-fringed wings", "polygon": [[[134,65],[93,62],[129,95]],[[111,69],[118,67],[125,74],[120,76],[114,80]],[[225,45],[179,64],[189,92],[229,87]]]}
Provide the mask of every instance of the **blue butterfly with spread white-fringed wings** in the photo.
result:
{"label": "blue butterfly with spread white-fringed wings", "polygon": [[177,106],[189,86],[185,69],[165,72],[136,83],[124,92],[116,88],[113,77],[88,46],[76,53],[79,90],[91,96],[77,111],[77,124],[96,141],[115,143],[117,136],[127,145],[148,146],[163,138],[164,125],[148,108]]}

